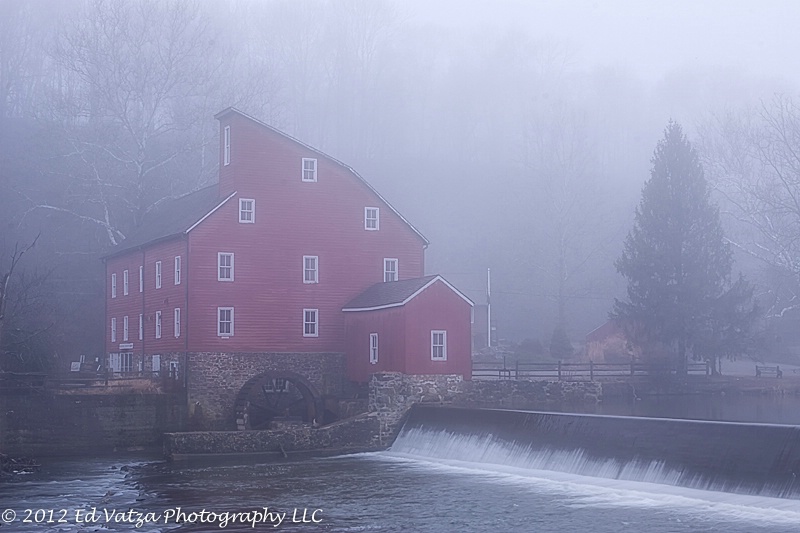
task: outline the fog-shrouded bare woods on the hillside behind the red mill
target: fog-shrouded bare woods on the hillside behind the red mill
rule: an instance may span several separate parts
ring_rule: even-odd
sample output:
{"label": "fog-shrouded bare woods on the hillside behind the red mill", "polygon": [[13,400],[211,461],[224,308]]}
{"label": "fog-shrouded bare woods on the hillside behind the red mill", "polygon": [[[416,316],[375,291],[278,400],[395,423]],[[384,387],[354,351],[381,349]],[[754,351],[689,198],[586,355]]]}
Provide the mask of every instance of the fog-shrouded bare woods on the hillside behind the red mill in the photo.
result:
{"label": "fog-shrouded bare woods on the hillside behind the red mill", "polygon": [[787,309],[800,128],[779,131],[798,114],[773,94],[792,87],[579,68],[580,50],[516,28],[383,0],[0,0],[0,274],[38,235],[9,278],[5,349],[102,353],[98,257],[216,180],[228,106],[359,170],[431,240],[427,270],[477,303],[491,267],[500,336],[543,340],[558,323],[582,339],[622,292],[614,259],[673,118],[699,141],[741,268]]}

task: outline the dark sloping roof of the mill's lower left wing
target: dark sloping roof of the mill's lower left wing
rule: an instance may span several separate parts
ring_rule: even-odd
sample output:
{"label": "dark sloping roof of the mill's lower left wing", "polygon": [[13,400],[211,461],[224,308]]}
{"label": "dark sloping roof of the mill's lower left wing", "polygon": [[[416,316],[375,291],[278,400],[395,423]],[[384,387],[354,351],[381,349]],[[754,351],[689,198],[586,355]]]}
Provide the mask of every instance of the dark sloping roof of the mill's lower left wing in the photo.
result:
{"label": "dark sloping roof of the mill's lower left wing", "polygon": [[227,198],[220,198],[219,185],[215,183],[174,200],[165,201],[153,209],[141,226],[104,257],[113,257],[154,242],[186,234],[235,195],[234,192]]}

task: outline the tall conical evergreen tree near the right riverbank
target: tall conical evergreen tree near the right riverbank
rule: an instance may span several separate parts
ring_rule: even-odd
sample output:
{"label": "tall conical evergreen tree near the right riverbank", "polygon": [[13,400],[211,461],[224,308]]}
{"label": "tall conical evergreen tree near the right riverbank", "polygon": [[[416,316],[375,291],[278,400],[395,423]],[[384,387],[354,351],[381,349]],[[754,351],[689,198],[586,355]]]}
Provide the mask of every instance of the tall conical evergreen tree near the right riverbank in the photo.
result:
{"label": "tall conical evergreen tree near the right riverbank", "polygon": [[[628,280],[628,301],[617,300],[611,315],[640,341],[670,348],[678,370],[685,372],[690,352],[696,357],[718,353],[715,347],[731,313],[740,331],[749,330],[755,317],[752,291],[744,280],[730,284],[733,256],[719,211],[710,201],[697,154],[677,123],[667,126],[652,164],[633,229],[615,263]],[[734,337],[744,335],[724,337],[727,351],[734,349]]]}

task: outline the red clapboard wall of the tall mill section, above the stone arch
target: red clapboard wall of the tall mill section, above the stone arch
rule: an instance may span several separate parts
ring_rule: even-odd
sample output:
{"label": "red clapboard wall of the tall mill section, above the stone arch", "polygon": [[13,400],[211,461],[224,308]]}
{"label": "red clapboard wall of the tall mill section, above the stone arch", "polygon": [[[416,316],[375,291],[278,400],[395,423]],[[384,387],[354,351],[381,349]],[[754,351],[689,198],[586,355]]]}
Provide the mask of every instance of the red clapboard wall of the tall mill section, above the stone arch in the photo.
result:
{"label": "red clapboard wall of the tall mill section, above the stone arch", "polygon": [[[231,164],[220,193],[237,191],[189,233],[189,350],[341,352],[341,308],[383,280],[397,258],[401,279],[424,272],[424,241],[350,170],[237,113]],[[220,143],[222,160],[222,142]],[[317,182],[301,180],[302,158],[317,159]],[[238,222],[239,198],[256,200],[254,224]],[[379,231],[364,208],[380,209]],[[234,254],[235,280],[217,281],[217,253]],[[319,257],[319,283],[303,283],[303,256]],[[217,307],[234,307],[234,335],[217,336]],[[319,336],[303,337],[303,309],[319,309]]]}

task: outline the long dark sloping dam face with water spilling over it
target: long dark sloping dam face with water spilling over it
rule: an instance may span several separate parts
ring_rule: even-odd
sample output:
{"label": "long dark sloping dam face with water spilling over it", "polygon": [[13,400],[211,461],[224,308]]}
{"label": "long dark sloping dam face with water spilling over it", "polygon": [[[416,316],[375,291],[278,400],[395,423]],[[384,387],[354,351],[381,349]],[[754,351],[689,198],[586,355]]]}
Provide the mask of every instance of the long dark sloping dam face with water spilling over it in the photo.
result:
{"label": "long dark sloping dam face with water spilling over it", "polygon": [[800,500],[800,426],[416,405],[391,451]]}

